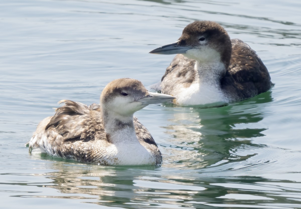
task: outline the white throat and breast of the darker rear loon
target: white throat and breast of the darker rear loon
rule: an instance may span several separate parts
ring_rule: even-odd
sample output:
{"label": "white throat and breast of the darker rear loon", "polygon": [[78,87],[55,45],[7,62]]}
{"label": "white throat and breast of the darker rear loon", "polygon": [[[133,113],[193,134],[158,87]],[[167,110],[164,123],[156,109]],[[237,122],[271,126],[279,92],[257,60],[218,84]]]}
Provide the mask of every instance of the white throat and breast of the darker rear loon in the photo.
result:
{"label": "white throat and breast of the darker rear loon", "polygon": [[216,50],[209,48],[205,51],[207,53],[199,49],[191,49],[185,54],[188,58],[198,57],[195,59],[195,78],[188,88],[181,88],[181,91],[177,92],[178,94],[173,95],[178,98],[177,104],[205,105],[229,102],[223,94],[220,84],[220,79],[226,72],[225,64]]}

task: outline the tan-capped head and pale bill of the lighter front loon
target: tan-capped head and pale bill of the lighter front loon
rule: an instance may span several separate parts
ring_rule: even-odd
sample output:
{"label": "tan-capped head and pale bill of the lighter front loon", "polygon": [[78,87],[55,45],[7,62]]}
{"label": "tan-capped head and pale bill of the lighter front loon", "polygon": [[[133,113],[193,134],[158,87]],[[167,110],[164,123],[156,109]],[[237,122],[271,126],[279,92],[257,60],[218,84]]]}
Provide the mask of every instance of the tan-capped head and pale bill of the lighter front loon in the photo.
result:
{"label": "tan-capped head and pale bill of the lighter front loon", "polygon": [[175,97],[152,93],[146,90],[141,81],[120,78],[111,81],[102,91],[100,103],[106,112],[120,116],[131,116],[149,104],[168,102]]}

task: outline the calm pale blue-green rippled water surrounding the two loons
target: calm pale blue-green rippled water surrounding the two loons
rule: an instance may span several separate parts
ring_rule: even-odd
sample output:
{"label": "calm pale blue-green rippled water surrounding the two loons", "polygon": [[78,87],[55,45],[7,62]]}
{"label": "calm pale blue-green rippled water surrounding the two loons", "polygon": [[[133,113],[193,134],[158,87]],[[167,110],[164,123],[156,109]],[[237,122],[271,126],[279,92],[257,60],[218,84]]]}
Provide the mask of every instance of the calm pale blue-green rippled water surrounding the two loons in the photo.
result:
{"label": "calm pale blue-green rippled water surrounding the two loons", "polygon": [[[12,0],[0,2],[1,208],[301,208],[301,3]],[[148,54],[194,20],[214,20],[267,66],[270,91],[217,108],[150,105],[135,115],[160,167],[29,155],[57,102],[97,103],[116,78],[148,87],[173,55]]]}

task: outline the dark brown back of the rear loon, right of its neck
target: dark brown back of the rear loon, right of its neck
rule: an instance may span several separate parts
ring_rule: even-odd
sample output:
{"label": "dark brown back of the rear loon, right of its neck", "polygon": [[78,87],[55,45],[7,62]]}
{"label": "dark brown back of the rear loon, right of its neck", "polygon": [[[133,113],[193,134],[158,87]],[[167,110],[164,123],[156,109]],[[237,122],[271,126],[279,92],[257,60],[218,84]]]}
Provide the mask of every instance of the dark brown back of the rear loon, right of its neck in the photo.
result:
{"label": "dark brown back of the rear loon, right of its neck", "polygon": [[234,100],[243,100],[268,91],[272,87],[268,69],[256,52],[239,39],[231,39],[232,54],[221,86]]}

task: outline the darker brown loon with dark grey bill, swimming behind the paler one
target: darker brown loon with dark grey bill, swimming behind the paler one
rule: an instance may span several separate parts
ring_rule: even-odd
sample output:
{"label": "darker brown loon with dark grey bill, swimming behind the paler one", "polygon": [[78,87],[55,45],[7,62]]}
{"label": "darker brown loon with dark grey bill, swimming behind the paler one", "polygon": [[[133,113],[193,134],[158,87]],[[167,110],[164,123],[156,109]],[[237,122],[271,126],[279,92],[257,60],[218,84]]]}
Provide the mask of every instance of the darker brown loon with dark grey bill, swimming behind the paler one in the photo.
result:
{"label": "darker brown loon with dark grey bill, swimming behind the paler one", "polygon": [[254,97],[272,87],[256,52],[240,39],[230,39],[213,21],[188,24],[178,41],[152,54],[177,54],[161,82],[151,88],[177,99],[177,105],[225,104]]}

